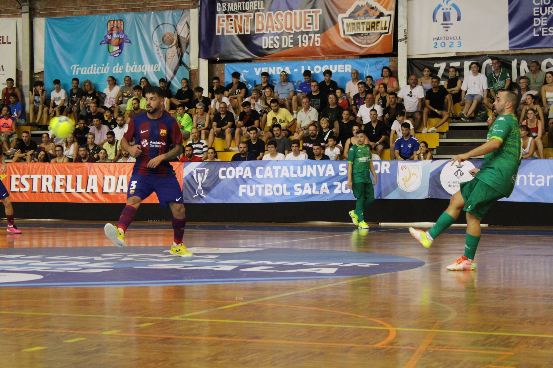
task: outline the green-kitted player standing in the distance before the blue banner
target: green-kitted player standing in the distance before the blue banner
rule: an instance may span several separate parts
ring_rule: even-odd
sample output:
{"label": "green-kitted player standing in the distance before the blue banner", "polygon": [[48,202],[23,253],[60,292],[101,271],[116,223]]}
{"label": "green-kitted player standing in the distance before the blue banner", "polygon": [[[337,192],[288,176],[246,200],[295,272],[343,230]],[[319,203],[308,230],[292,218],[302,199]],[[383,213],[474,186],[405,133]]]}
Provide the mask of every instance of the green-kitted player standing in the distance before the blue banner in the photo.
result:
{"label": "green-kitted player standing in the distance before the blue banner", "polygon": [[[374,201],[374,185],[377,185],[377,172],[374,170],[371,148],[360,144],[365,142],[365,131],[356,133],[357,144],[349,148],[347,154],[347,187],[353,190],[357,199],[355,210],[349,211],[349,216],[355,225],[362,229],[368,229],[365,222],[364,210]],[[371,180],[373,173],[374,180]]]}

